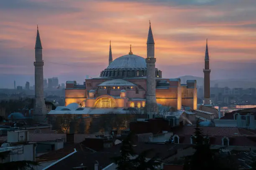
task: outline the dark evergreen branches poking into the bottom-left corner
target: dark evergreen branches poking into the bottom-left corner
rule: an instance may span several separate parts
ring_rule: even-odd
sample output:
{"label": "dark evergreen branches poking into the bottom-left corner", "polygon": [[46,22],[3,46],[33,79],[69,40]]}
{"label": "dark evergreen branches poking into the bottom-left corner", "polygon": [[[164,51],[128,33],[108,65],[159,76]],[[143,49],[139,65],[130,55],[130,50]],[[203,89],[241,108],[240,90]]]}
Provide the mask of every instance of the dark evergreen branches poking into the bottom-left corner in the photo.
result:
{"label": "dark evergreen branches poking into the bottom-left corner", "polygon": [[[0,152],[0,160],[3,161],[10,151]],[[0,170],[34,170],[33,166],[37,166],[38,163],[29,160],[13,161],[7,163],[0,163]]]}

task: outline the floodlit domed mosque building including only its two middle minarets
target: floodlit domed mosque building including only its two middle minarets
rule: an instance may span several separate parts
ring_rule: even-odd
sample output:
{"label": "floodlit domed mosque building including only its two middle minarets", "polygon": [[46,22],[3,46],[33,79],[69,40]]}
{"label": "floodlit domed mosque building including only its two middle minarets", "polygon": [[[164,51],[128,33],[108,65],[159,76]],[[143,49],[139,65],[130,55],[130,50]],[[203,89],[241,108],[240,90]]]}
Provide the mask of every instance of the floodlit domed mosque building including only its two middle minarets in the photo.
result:
{"label": "floodlit domed mosque building including only its two middle minarets", "polygon": [[[163,78],[155,68],[154,39],[151,27],[148,32],[147,57],[134,55],[131,47],[128,55],[112,59],[110,45],[109,65],[99,77],[86,79],[84,85],[67,81],[65,105],[78,103],[87,108],[147,107],[157,112],[156,103],[182,109],[197,109],[196,80]],[[149,90],[147,92],[147,89]]]}

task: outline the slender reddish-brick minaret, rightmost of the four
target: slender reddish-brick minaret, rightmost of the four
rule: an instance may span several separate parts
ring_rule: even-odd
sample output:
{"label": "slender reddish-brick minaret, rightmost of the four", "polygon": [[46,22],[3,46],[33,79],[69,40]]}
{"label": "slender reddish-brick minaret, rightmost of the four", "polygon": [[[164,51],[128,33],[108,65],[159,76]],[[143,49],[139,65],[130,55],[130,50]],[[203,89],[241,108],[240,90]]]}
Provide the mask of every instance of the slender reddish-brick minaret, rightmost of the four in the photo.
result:
{"label": "slender reddish-brick minaret, rightmost of the four", "polygon": [[205,104],[210,104],[210,58],[208,53],[208,44],[206,39],[206,49],[205,49],[205,69],[203,69],[204,72],[204,96],[205,96]]}

